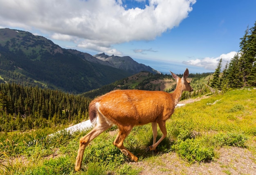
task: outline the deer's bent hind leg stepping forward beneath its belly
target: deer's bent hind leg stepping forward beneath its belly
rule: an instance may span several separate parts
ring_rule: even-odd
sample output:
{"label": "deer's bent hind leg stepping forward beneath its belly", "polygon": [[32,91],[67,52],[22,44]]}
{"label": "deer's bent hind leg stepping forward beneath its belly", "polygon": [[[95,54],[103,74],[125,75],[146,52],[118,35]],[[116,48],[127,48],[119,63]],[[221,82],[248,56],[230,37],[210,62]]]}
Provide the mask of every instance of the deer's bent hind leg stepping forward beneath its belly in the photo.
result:
{"label": "deer's bent hind leg stepping forward beneath its belly", "polygon": [[124,147],[124,140],[129,135],[130,131],[132,131],[133,127],[119,127],[119,133],[114,141],[114,145],[117,146],[121,150],[124,155],[128,156],[134,162],[138,162],[138,157],[133,155],[126,147]]}

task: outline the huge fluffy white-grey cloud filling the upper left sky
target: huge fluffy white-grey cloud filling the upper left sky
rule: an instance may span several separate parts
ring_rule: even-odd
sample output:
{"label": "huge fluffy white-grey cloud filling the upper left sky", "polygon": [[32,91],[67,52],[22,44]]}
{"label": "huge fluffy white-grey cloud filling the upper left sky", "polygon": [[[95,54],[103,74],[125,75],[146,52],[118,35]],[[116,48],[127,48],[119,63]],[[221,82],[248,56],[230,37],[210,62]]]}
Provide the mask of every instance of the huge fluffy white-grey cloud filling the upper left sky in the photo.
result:
{"label": "huge fluffy white-grey cloud filling the upper left sky", "polygon": [[144,7],[127,9],[126,0],[0,0],[0,24],[108,53],[116,51],[112,44],[153,40],[178,26],[195,0],[137,2]]}

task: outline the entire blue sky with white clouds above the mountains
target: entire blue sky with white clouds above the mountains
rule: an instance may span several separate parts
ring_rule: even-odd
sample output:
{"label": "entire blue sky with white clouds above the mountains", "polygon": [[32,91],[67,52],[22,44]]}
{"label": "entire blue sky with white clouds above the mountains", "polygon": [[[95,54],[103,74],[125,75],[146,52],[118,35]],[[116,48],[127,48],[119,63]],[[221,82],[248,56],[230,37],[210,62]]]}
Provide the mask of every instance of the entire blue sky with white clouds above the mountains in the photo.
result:
{"label": "entire blue sky with white clouds above the mountains", "polygon": [[[130,56],[162,72],[212,72],[239,51],[256,0],[0,0],[0,28],[91,55]],[[223,65],[224,67],[224,65]]]}

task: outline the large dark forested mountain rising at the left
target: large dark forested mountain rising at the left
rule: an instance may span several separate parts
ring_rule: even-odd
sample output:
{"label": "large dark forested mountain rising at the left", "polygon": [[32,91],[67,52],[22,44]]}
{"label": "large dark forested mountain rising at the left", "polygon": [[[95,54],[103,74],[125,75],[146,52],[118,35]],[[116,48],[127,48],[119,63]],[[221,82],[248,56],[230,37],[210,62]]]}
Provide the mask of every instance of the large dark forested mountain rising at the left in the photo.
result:
{"label": "large dark forested mountain rising at the left", "polygon": [[83,93],[134,73],[88,53],[63,49],[43,36],[0,29],[0,82]]}

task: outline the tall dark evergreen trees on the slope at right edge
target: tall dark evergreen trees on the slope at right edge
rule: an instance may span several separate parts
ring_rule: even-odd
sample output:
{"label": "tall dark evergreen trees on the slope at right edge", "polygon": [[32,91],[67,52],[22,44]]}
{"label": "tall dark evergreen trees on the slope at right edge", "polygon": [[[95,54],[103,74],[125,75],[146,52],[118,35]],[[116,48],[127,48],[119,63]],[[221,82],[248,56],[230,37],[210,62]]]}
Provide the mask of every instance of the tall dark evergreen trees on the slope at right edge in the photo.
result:
{"label": "tall dark evergreen trees on the slope at right edge", "polygon": [[240,51],[225,64],[221,73],[222,58],[213,73],[210,86],[218,90],[256,86],[256,22],[240,38]]}

